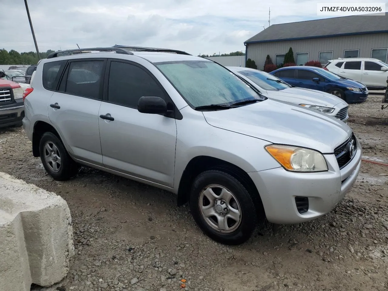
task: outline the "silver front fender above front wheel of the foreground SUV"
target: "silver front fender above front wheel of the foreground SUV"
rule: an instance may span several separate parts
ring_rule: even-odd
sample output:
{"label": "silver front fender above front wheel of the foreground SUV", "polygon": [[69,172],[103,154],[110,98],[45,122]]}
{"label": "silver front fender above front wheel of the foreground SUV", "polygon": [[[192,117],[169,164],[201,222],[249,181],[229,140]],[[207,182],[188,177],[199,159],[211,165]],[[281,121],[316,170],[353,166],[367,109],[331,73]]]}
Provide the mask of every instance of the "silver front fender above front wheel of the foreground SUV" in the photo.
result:
{"label": "silver front fender above front wheel of the foreground SUV", "polygon": [[173,192],[178,192],[180,178],[191,159],[210,156],[222,159],[249,172],[281,167],[264,146],[266,140],[249,137],[209,125],[201,111],[187,106],[177,120],[177,148]]}

